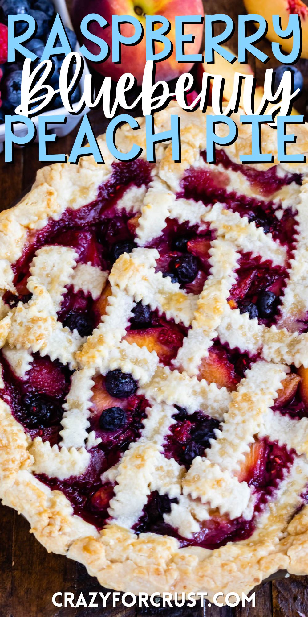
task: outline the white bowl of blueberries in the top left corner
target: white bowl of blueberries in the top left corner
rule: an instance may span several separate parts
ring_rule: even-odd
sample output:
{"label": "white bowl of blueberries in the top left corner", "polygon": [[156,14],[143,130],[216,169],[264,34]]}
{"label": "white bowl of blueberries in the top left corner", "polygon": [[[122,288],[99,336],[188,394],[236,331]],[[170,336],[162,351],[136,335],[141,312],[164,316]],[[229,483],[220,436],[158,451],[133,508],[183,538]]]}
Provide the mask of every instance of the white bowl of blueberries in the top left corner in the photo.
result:
{"label": "white bowl of blueberries in the top left corner", "polygon": [[[34,17],[38,25],[36,35],[24,45],[30,51],[33,51],[36,56],[38,56],[38,60],[36,60],[36,62],[39,62],[39,59],[44,51],[46,40],[51,31],[55,14],[57,13],[59,13],[62,19],[65,31],[67,32],[68,40],[70,41],[71,49],[73,49],[73,51],[79,51],[79,44],[71,25],[70,15],[68,14],[65,0],[0,0],[0,92],[2,101],[2,105],[0,107],[0,152],[3,150],[4,143],[5,116],[6,114],[14,114],[14,109],[20,104],[22,69],[23,62],[25,60],[24,57],[16,57],[16,61],[14,63],[3,62],[4,57],[7,57],[5,50],[7,43],[5,41],[4,43],[1,42],[1,33],[6,30],[7,15],[28,14]],[[26,25],[24,22],[18,22],[15,27],[17,28],[17,33],[19,34],[22,33],[23,28],[25,28]],[[64,55],[53,56],[51,58],[52,63],[54,64],[54,72],[49,83],[51,83],[55,90],[59,88],[60,68],[62,66],[63,59]],[[3,62],[3,64],[1,64],[1,62]],[[74,70],[74,67],[72,67],[72,70]],[[78,107],[78,103],[81,99],[81,91],[83,91],[84,88],[84,78],[87,74],[89,74],[89,68],[87,68],[86,61],[84,61],[84,72],[79,82],[79,86],[71,94],[71,103],[73,104],[73,107]],[[35,107],[33,109],[35,109]],[[53,99],[52,103],[43,109],[41,113],[44,114],[44,116],[65,115],[67,117],[67,122],[65,124],[57,124],[53,122],[49,127],[49,132],[57,133],[58,136],[64,136],[68,135],[68,133],[75,128],[81,116],[87,114],[87,112],[89,112],[89,108],[85,107],[80,114],[71,115],[65,107],[63,107],[62,99],[60,94],[58,94]],[[33,120],[37,128],[37,141],[38,115],[31,115],[31,120]],[[17,136],[24,135],[26,133],[25,127],[20,124],[15,125],[14,133]]]}

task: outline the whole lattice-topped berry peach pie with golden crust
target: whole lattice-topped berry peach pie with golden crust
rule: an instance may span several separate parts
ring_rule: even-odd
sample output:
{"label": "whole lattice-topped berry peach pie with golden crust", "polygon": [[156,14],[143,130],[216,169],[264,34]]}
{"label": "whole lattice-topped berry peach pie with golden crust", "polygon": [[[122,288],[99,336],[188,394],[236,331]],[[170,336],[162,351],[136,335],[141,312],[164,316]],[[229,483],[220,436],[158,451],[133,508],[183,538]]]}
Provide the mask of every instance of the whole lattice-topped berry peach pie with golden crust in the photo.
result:
{"label": "whole lattice-topped berry peach pie with golden crust", "polygon": [[308,177],[171,113],[180,163],[101,137],[0,215],[1,497],[105,587],[212,597],[308,573]]}

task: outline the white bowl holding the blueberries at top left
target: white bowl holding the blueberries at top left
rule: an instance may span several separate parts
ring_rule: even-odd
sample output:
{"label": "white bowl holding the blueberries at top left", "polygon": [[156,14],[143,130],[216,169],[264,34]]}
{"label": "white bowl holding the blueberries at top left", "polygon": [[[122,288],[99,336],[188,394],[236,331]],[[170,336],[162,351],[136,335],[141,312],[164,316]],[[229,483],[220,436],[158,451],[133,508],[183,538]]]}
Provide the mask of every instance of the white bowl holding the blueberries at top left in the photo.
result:
{"label": "white bowl holding the blueberries at top left", "polygon": [[[71,24],[71,20],[70,20],[70,15],[68,14],[68,10],[67,10],[67,5],[65,3],[65,0],[53,0],[54,2],[54,6],[55,6],[55,10],[57,13],[59,13],[62,22],[65,26],[68,26],[69,28],[73,29],[73,26]],[[76,45],[76,51],[79,51],[80,46],[77,43]],[[79,86],[81,88],[81,90],[83,91],[84,88],[84,77],[86,75],[89,75],[89,68],[87,67],[86,64],[86,60],[84,60],[84,72],[83,75],[81,77],[81,80],[79,82]],[[0,82],[0,91],[1,91],[1,82]],[[73,104],[73,109],[77,108],[79,105],[79,102],[77,101],[76,103]],[[51,109],[49,111],[44,111],[42,112],[42,115],[44,116],[49,116],[49,115],[56,115],[56,116],[60,116],[60,115],[65,115],[67,117],[67,123],[66,124],[55,124],[53,123],[52,126],[49,126],[49,133],[57,133],[57,135],[59,137],[63,137],[65,135],[68,135],[68,133],[70,133],[73,128],[75,128],[75,126],[78,124],[80,118],[87,114],[89,112],[89,107],[85,107],[83,109],[83,111],[78,114],[78,115],[71,115],[67,109],[65,109],[65,107],[58,107],[57,109]],[[34,124],[36,125],[36,129],[37,129],[37,133],[36,133],[36,140],[38,141],[38,118],[39,115],[37,116],[32,116],[31,120],[34,122]],[[14,135],[16,136],[24,136],[28,133],[28,130],[22,126],[22,125],[16,125],[14,128]],[[5,131],[4,131],[4,124],[0,125],[0,152],[2,152],[3,150],[3,143],[4,143],[4,139],[5,139]]]}

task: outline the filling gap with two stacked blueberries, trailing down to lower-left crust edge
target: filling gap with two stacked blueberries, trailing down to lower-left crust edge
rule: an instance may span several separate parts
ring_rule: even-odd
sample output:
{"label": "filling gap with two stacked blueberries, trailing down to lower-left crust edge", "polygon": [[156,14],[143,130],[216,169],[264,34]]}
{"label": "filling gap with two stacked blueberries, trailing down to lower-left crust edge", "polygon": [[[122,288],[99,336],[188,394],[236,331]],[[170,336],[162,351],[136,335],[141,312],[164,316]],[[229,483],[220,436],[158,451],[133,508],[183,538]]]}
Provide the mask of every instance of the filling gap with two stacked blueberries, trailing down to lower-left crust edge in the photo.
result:
{"label": "filling gap with two stacked blueberries, trailing down to lower-left crust edge", "polygon": [[137,383],[120,369],[94,378],[88,431],[95,431],[100,443],[91,449],[90,464],[82,476],[60,481],[38,474],[52,490],[62,491],[76,515],[101,529],[108,520],[114,483],[102,481],[102,474],[120,461],[129,444],[137,441],[143,428],[144,397],[136,394]]}

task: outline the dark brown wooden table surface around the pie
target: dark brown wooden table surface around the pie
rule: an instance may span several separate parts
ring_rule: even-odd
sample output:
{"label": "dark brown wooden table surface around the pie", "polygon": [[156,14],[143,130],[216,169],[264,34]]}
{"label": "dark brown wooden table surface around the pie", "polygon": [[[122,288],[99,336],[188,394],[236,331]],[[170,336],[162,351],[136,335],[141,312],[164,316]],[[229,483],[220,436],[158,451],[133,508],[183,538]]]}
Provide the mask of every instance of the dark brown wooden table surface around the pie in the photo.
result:
{"label": "dark brown wooden table surface around the pie", "polygon": [[[188,2],[188,0],[187,0]],[[71,2],[68,2],[71,5]],[[227,13],[235,22],[237,15],[244,12],[240,0],[206,0],[206,12]],[[237,49],[237,33],[229,43]],[[269,43],[261,46],[270,54]],[[251,61],[259,83],[262,84],[265,67]],[[301,68],[306,73],[306,63],[301,61]],[[275,65],[270,60],[266,68]],[[297,107],[304,112],[305,97],[301,97]],[[103,133],[107,122],[100,110],[91,112],[92,127],[96,135]],[[49,147],[49,152],[70,152],[77,129],[66,138]],[[38,161],[38,146],[33,144],[26,149],[15,151],[15,162],[7,165],[4,155],[0,155],[1,202],[0,209],[6,209],[18,199],[18,196],[31,183],[36,171],[42,164]],[[87,575],[86,569],[60,555],[48,554],[46,550],[29,533],[29,524],[7,507],[0,507],[1,549],[0,549],[0,616],[1,617],[141,617],[139,608],[56,608],[52,605],[52,594],[56,591],[73,592],[75,596],[82,591],[85,596],[89,591],[101,588],[96,579]],[[256,607],[237,608],[174,608],[153,609],[150,615],[164,617],[308,617],[308,577],[290,577],[275,582],[267,582],[256,589]]]}

